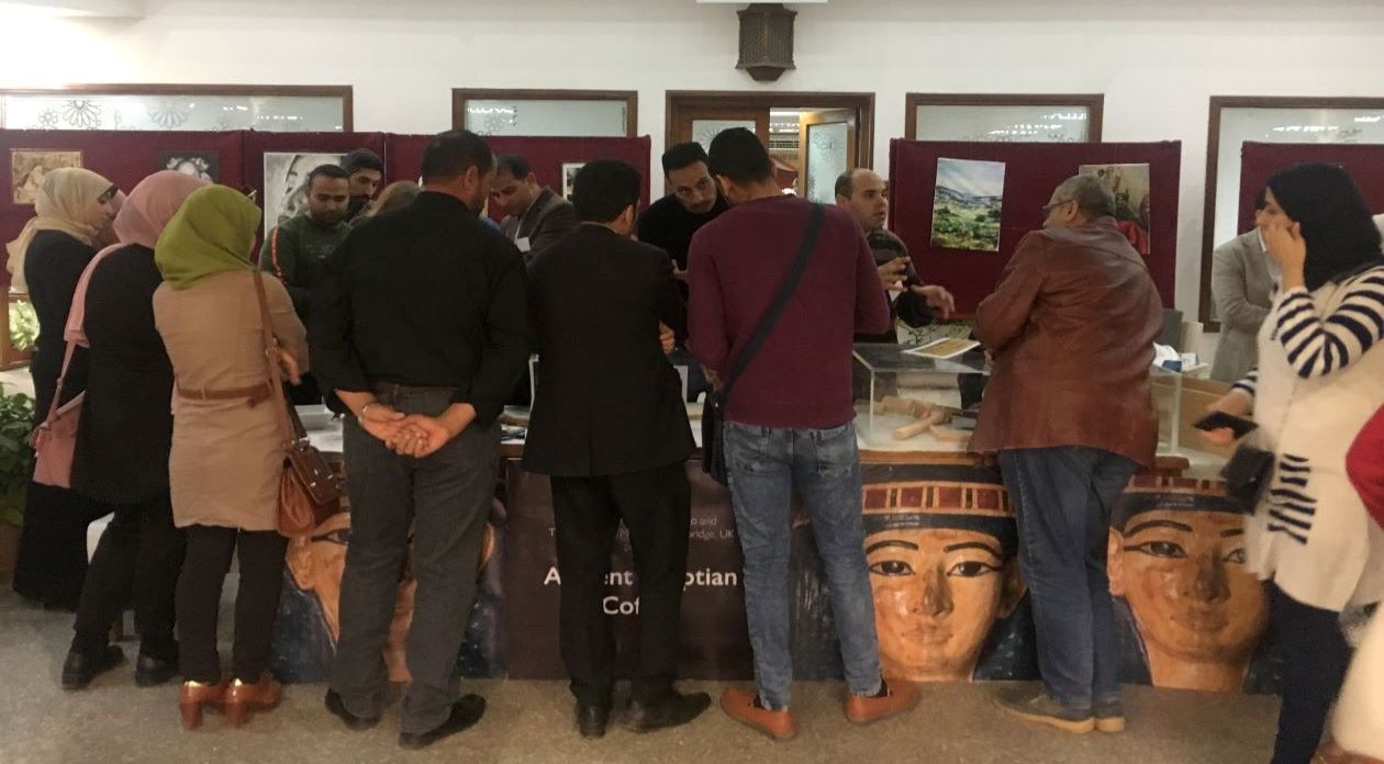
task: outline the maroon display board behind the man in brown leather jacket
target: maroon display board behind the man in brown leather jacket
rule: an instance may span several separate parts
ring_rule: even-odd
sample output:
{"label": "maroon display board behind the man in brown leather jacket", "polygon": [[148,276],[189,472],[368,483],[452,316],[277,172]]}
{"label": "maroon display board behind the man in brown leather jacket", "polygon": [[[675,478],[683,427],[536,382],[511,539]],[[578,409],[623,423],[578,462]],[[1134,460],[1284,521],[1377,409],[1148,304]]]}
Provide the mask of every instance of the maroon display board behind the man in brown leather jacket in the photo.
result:
{"label": "maroon display board behind the man in brown leather jacket", "polygon": [[[1005,163],[999,221],[999,251],[973,252],[931,245],[933,195],[937,161],[967,159]],[[1165,306],[1172,306],[1178,262],[1178,180],[1182,144],[1026,144],[890,141],[890,228],[904,239],[927,282],[940,284],[956,296],[962,316],[976,311],[1009,263],[1024,234],[1042,226],[1042,206],[1053,188],[1077,174],[1081,165],[1149,165],[1151,238],[1146,257],[1149,273]]]}

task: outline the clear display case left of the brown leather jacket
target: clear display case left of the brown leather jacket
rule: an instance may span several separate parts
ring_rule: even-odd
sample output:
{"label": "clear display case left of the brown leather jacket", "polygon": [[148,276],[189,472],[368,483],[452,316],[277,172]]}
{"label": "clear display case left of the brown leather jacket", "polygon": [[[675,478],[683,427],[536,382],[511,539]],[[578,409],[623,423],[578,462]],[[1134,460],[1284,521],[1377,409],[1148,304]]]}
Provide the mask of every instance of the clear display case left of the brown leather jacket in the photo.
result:
{"label": "clear display case left of the brown leather jacket", "polygon": [[990,374],[978,350],[954,358],[907,345],[857,345],[853,388],[866,451],[965,451]]}

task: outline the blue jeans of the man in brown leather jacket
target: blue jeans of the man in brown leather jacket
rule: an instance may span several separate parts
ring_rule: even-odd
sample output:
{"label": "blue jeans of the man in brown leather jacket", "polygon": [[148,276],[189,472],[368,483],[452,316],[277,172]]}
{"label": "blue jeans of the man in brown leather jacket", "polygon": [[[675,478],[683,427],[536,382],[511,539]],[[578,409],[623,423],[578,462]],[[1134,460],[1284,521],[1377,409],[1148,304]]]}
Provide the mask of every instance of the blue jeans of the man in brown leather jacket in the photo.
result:
{"label": "blue jeans of the man in brown leather jacket", "polygon": [[1120,700],[1106,556],[1110,508],[1136,468],[1132,460],[1084,446],[999,453],[1019,520],[1038,670],[1048,695],[1067,709]]}

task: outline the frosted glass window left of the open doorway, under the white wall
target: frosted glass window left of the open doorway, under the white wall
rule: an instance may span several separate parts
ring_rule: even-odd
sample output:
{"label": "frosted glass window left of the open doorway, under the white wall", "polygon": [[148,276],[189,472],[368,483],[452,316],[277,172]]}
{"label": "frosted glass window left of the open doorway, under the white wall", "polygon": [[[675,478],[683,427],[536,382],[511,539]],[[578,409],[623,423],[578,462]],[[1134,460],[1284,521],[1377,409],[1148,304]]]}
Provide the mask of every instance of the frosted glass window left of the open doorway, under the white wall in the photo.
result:
{"label": "frosted glass window left of the open doorway, under the white wall", "polygon": [[482,136],[624,137],[628,111],[624,100],[468,100],[466,129]]}

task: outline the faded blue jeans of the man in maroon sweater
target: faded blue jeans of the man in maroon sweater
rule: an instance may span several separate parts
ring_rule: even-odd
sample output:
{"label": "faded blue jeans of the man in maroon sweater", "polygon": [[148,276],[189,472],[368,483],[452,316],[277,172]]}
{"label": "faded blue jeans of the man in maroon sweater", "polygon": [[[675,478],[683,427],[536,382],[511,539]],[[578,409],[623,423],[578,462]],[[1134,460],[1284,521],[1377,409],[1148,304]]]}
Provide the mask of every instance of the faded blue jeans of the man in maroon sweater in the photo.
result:
{"label": "faded blue jeans of the man in maroon sweater", "polygon": [[812,522],[841,644],[846,684],[857,695],[880,689],[875,599],[861,523],[861,461],[855,426],[761,428],[725,422],[731,502],[745,552],[745,609],[760,703],[789,707],[789,498],[797,489]]}

